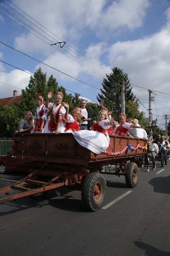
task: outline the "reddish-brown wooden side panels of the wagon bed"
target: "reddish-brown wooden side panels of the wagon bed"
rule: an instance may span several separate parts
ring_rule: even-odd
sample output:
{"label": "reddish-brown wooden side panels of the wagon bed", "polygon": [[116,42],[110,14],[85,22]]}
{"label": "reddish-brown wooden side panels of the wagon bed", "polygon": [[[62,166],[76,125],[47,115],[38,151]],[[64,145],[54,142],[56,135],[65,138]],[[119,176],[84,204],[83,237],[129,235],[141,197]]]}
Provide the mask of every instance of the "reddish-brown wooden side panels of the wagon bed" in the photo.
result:
{"label": "reddish-brown wooden side panels of the wagon bed", "polygon": [[[80,146],[72,134],[15,134],[14,151],[19,159],[40,161],[58,164],[71,164],[87,166],[89,162],[103,161],[103,159],[123,158],[144,153],[144,149],[138,148],[131,152],[108,156],[107,154],[94,154],[87,148]],[[130,137],[110,136],[107,152],[121,152],[125,146],[145,146],[146,140]],[[23,157],[23,158],[22,158]]]}

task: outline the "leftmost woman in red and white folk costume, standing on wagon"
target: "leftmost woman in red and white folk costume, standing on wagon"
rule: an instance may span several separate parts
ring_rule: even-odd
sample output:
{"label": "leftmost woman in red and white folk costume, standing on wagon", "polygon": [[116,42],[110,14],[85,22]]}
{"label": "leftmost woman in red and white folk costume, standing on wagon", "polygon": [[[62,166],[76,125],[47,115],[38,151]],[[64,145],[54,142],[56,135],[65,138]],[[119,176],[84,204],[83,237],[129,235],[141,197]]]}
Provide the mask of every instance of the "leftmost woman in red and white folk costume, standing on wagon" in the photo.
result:
{"label": "leftmost woman in red and white folk costume, standing on wagon", "polygon": [[36,114],[34,116],[34,133],[42,133],[45,122],[48,118],[48,109],[45,108],[45,101],[43,101],[43,98],[41,94],[38,94],[37,96],[37,104],[38,107],[36,108]]}

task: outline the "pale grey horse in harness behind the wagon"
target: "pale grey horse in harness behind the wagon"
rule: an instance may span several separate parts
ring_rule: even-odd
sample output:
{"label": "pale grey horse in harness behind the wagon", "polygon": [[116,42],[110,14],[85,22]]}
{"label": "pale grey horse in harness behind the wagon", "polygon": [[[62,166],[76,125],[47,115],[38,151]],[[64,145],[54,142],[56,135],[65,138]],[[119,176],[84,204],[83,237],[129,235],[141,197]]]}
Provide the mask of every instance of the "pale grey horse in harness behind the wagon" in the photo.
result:
{"label": "pale grey horse in harness behind the wagon", "polygon": [[149,172],[149,158],[152,158],[152,163],[153,163],[153,170],[156,168],[156,158],[159,154],[159,147],[156,143],[152,144],[152,140],[148,140],[147,144],[147,151],[146,151],[146,160],[148,162],[148,169],[147,172]]}

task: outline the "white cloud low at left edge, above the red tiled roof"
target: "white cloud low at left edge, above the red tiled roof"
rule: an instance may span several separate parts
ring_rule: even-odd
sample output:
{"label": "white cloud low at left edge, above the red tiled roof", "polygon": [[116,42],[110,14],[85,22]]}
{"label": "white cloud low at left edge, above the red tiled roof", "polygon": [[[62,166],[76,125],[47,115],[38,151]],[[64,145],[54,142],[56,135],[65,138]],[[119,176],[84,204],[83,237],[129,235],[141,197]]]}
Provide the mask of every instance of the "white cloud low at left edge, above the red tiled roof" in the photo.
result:
{"label": "white cloud low at left edge, above the red tiled roof", "polygon": [[12,97],[14,90],[21,95],[21,90],[28,86],[29,80],[30,75],[21,70],[12,70],[10,73],[0,72],[1,98]]}

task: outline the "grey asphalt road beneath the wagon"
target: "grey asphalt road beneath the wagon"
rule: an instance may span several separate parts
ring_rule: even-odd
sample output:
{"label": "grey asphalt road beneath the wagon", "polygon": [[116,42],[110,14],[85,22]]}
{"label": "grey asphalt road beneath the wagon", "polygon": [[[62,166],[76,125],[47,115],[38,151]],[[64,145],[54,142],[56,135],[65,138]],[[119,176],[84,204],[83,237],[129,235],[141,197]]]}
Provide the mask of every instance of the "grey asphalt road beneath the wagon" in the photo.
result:
{"label": "grey asphalt road beneath the wagon", "polygon": [[105,206],[128,192],[106,210],[86,212],[81,192],[62,188],[43,201],[1,204],[0,256],[170,256],[170,161],[150,172],[144,166],[132,189],[124,176],[103,176]]}

